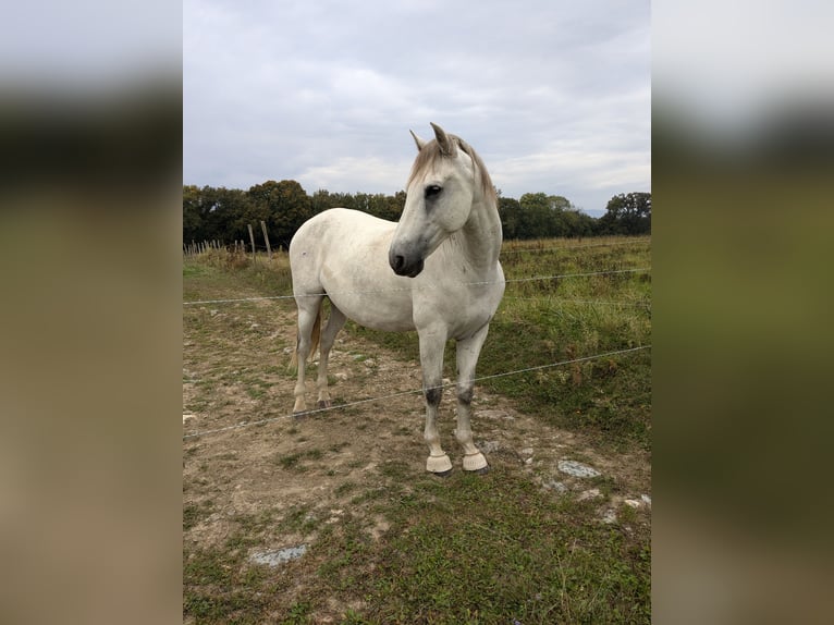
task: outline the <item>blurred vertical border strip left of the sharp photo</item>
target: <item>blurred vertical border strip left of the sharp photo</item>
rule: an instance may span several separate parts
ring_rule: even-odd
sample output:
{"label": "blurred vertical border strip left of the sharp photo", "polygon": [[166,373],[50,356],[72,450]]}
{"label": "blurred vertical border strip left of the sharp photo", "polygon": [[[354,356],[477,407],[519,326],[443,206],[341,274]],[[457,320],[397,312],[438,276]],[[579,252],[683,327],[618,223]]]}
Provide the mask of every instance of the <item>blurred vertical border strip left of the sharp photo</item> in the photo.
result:
{"label": "blurred vertical border strip left of the sharp photo", "polygon": [[182,621],[181,33],[157,1],[4,15],[4,623]]}

